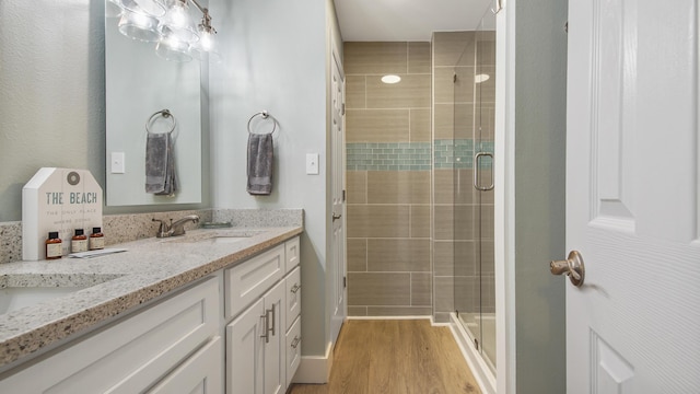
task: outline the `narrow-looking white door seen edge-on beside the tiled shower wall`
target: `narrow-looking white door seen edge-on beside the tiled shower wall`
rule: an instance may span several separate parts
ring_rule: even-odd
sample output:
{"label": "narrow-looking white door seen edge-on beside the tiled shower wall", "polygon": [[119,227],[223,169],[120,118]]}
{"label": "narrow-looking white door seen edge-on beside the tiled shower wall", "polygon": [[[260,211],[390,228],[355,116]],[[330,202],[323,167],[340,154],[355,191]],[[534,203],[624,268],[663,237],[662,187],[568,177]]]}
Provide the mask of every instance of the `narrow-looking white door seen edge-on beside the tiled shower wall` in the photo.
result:
{"label": "narrow-looking white door seen edge-on beside the tiled shower wall", "polygon": [[346,306],[346,235],[345,235],[345,171],[343,171],[343,115],[345,115],[345,83],[338,56],[332,53],[332,86],[331,86],[331,116],[332,135],[330,144],[331,155],[331,184],[332,184],[332,239],[330,241],[331,291],[334,294],[332,315],[330,316],[330,340],[336,343],[340,327],[347,316]]}

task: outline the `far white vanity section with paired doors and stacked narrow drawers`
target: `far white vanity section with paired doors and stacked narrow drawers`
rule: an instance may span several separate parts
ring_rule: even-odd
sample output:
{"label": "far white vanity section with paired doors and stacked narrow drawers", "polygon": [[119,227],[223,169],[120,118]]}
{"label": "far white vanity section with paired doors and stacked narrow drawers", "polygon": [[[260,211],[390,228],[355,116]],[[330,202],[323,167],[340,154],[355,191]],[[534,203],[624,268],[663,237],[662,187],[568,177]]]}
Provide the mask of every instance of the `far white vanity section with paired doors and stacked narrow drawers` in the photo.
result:
{"label": "far white vanity section with paired doors and stacked narrow drawers", "polygon": [[[225,302],[232,305],[225,308],[228,313],[231,312],[226,317],[233,318],[226,325],[229,394],[282,394],[294,376],[299,362],[291,367],[288,362],[291,345],[288,322],[289,313],[293,313],[292,325],[296,322],[296,327],[301,328],[299,257],[299,237],[295,237],[224,271]],[[270,279],[273,277],[278,279]],[[291,288],[294,292],[290,291]],[[242,301],[244,297],[250,301],[245,303]],[[294,305],[291,312],[288,308],[290,299],[295,299],[291,301]],[[236,315],[242,309],[240,305],[245,305],[245,309]],[[295,335],[301,338],[301,329],[298,331]],[[294,344],[299,351],[300,340]]]}

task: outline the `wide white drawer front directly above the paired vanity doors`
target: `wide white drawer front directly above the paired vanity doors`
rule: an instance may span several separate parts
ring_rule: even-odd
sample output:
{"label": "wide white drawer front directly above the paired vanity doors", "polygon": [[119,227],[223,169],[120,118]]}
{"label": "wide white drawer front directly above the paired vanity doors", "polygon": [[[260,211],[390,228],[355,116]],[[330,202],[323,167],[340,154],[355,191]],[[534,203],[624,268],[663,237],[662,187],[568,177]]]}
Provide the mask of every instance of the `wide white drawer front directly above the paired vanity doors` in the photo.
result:
{"label": "wide white drawer front directly above the paired vanity doors", "polygon": [[241,313],[284,276],[284,245],[224,271],[226,318]]}

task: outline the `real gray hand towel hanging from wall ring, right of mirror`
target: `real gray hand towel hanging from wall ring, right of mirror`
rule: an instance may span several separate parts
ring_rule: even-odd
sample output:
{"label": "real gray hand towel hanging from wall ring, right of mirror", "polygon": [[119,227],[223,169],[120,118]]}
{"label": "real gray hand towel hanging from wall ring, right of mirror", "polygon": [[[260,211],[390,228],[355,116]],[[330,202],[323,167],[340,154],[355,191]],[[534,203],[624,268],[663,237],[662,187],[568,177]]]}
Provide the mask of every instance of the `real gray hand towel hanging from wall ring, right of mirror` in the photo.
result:
{"label": "real gray hand towel hanging from wall ring, right of mirror", "polygon": [[272,135],[248,136],[248,194],[268,196],[272,193]]}

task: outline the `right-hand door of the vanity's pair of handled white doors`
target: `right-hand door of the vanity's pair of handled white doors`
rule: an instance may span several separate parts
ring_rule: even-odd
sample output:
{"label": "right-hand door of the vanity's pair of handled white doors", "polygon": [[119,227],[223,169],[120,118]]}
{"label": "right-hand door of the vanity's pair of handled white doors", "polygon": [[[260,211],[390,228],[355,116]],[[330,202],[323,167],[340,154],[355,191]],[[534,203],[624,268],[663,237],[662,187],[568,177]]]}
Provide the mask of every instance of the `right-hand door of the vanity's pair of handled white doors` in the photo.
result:
{"label": "right-hand door of the vanity's pair of handled white doors", "polygon": [[267,333],[269,341],[265,344],[265,394],[283,394],[287,391],[285,289],[284,280],[281,280],[265,294],[265,310],[271,316]]}

